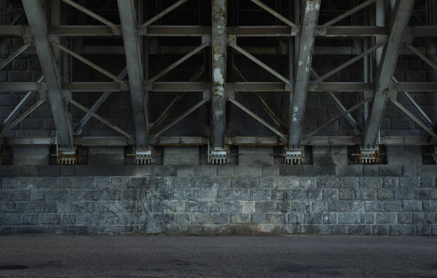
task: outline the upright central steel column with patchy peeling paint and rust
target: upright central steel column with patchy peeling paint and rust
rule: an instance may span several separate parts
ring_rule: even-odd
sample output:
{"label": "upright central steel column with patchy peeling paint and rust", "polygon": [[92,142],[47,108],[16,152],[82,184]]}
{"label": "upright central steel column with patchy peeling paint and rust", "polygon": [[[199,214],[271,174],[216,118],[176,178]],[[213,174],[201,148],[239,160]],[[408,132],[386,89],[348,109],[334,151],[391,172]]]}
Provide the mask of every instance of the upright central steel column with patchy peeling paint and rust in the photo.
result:
{"label": "upright central steel column with patchy peeling paint and rust", "polygon": [[223,149],[226,107],[226,0],[212,0],[213,148]]}

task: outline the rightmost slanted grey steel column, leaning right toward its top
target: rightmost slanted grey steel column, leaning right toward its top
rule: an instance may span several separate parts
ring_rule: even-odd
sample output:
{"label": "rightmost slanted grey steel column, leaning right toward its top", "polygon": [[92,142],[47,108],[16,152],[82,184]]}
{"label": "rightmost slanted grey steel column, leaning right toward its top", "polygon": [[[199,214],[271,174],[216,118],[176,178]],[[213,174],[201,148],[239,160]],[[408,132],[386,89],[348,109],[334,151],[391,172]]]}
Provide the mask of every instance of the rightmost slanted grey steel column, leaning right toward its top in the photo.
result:
{"label": "rightmost slanted grey steel column, leaning right toward its top", "polygon": [[391,27],[391,34],[383,50],[381,64],[376,76],[376,92],[364,134],[364,148],[374,149],[377,146],[378,132],[386,107],[389,87],[413,5],[413,0],[398,0],[396,2],[396,15]]}

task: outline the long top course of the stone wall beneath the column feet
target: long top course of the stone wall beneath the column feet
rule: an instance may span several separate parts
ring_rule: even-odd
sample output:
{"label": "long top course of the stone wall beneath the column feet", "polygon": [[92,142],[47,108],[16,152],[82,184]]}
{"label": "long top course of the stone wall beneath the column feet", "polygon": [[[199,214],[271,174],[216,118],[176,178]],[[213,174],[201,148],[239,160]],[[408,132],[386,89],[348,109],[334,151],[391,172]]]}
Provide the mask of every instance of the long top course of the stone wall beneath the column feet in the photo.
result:
{"label": "long top course of the stone wall beneath the column feet", "polygon": [[437,165],[2,165],[0,177],[435,177]]}

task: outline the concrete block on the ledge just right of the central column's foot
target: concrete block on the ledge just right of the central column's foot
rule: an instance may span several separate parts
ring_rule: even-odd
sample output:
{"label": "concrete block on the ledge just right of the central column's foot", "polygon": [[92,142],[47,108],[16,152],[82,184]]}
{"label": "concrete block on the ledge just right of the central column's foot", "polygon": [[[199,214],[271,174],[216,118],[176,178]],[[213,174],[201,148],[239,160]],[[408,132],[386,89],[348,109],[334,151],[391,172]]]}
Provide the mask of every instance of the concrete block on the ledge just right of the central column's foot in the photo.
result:
{"label": "concrete block on the ledge just right of the central column's foot", "polygon": [[271,154],[271,146],[238,146],[238,165],[273,165]]}

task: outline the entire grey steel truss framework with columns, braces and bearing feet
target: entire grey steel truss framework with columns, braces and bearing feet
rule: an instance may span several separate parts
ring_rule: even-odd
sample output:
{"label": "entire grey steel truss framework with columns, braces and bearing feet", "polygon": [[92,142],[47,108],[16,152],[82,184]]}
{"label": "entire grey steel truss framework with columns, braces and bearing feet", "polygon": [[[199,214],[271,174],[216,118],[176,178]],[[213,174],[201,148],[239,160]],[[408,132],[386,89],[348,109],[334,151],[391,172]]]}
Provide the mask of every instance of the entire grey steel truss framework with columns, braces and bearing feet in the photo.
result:
{"label": "entire grey steel truss framework with columns, braces and bearing feet", "polygon": [[[398,82],[393,77],[400,53],[416,55],[437,70],[436,60],[428,58],[423,49],[413,46],[415,37],[423,37],[436,43],[437,26],[408,26],[414,0],[366,0],[356,3],[348,11],[337,12],[336,16],[327,22],[318,22],[323,1],[328,0],[295,0],[288,4],[288,15],[271,8],[273,1],[260,0],[211,0],[211,26],[169,26],[160,25],[159,20],[176,9],[182,9],[184,4],[196,0],[174,1],[155,16],[147,18],[143,13],[144,0],[117,0],[119,22],[114,24],[105,19],[97,10],[86,7],[86,1],[72,0],[22,0],[24,13],[29,26],[0,26],[1,37],[20,37],[24,45],[14,48],[9,58],[1,64],[4,68],[21,53],[36,53],[44,76],[37,82],[2,82],[0,93],[29,92],[22,98],[16,108],[3,121],[0,137],[4,145],[54,145],[59,148],[59,163],[74,164],[76,145],[133,145],[134,160],[138,164],[154,163],[153,145],[208,145],[209,163],[224,164],[229,160],[229,145],[283,145],[283,161],[287,164],[301,163],[304,158],[303,145],[361,145],[361,163],[378,162],[378,145],[434,145],[437,137],[435,123],[411,97],[415,92],[437,92],[437,82]],[[208,0],[209,1],[209,0]],[[253,9],[260,9],[278,24],[271,26],[239,26],[238,21],[228,24],[228,5],[233,1],[252,2]],[[109,1],[110,2],[110,1]],[[277,1],[274,1],[275,3]],[[328,1],[335,3],[336,1]],[[428,2],[428,1],[427,1]],[[433,1],[432,1],[433,2]],[[199,5],[201,1],[199,1]],[[61,17],[61,7],[68,5],[69,9],[77,9],[94,21],[103,25],[66,25]],[[64,7],[65,8],[65,7]],[[338,25],[354,14],[370,11],[374,23],[361,25]],[[199,7],[200,11],[200,7]],[[433,12],[431,11],[433,14]],[[49,16],[48,16],[49,15]],[[209,15],[208,15],[209,16]],[[80,51],[71,47],[74,41],[81,38],[122,38],[124,46],[84,46]],[[154,38],[188,37],[200,38],[197,47],[161,47],[154,46]],[[241,46],[240,38],[280,38],[283,48],[273,47],[251,48]],[[353,40],[360,46],[315,46],[318,39]],[[126,68],[118,76],[106,71],[101,66],[85,58],[85,55],[97,51],[126,56]],[[161,53],[183,54],[179,60],[172,63],[155,76],[149,76],[149,55]],[[256,58],[257,54],[281,53],[288,56],[288,76],[283,76],[266,63]],[[204,65],[194,74],[190,81],[169,82],[159,79],[199,53],[209,54],[211,61],[204,60]],[[228,58],[228,53],[248,58],[256,66],[277,78],[276,82],[248,82],[240,69]],[[328,73],[319,76],[317,68],[312,68],[311,60],[315,55],[348,55],[349,61],[333,68]],[[112,82],[74,82],[69,76],[71,57],[86,63]],[[357,61],[364,61],[362,82],[327,82],[326,80],[351,66]],[[231,65],[229,61],[232,60]],[[206,71],[211,71],[211,81],[198,81]],[[372,73],[374,72],[374,74]],[[233,73],[238,81],[228,81]],[[126,81],[128,77],[129,81]],[[98,115],[96,110],[106,101],[111,93],[129,91],[134,120],[135,134],[129,134],[123,127],[111,123]],[[86,108],[74,100],[76,92],[102,93],[91,108]],[[179,92],[171,101],[154,125],[149,126],[149,92]],[[258,100],[263,110],[270,117],[269,121],[256,115],[243,103],[236,100],[236,93],[250,92]],[[287,92],[288,123],[278,117],[277,111],[268,106],[260,93]],[[303,134],[305,108],[308,92],[327,93],[336,103],[339,114],[326,120],[326,123]],[[351,108],[346,108],[334,93],[350,92],[363,96],[363,101]],[[416,117],[406,107],[398,102],[398,92],[403,93],[416,109],[421,118]],[[17,113],[29,97],[39,93],[41,98],[28,110],[20,115]],[[171,123],[160,127],[174,106],[181,98],[190,93],[203,93],[203,98]],[[1,97],[1,96],[0,96]],[[6,133],[20,123],[45,101],[50,102],[51,112],[56,124],[56,138],[11,138],[4,137]],[[226,136],[226,102],[235,105],[261,123],[276,137],[227,137]],[[388,102],[393,103],[403,113],[406,113],[417,125],[429,134],[429,137],[380,137],[384,111]],[[204,137],[162,137],[166,130],[179,123],[197,108],[210,104],[211,132],[209,138]],[[84,111],[86,115],[79,125],[73,126],[71,109],[73,105]],[[364,107],[364,108],[363,108]],[[364,126],[351,113],[363,109],[366,113]],[[90,118],[96,118],[110,128],[119,132],[122,137],[86,137],[82,130]],[[352,125],[356,136],[353,137],[321,137],[318,131],[334,123],[340,118],[346,118]],[[62,157],[66,154],[66,157]]]}

